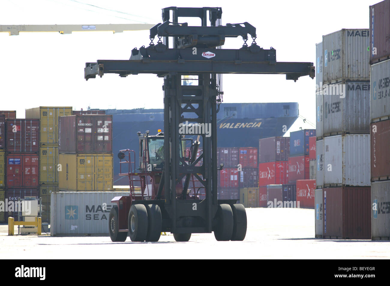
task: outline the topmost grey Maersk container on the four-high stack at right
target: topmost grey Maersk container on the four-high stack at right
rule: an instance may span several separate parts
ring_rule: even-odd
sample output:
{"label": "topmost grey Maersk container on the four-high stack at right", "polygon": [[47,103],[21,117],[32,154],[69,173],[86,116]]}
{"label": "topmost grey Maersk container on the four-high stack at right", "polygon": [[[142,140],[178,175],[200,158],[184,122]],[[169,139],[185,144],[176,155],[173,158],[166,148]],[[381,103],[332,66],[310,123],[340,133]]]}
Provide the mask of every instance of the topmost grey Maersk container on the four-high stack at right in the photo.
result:
{"label": "topmost grey Maersk container on the four-high stack at right", "polygon": [[342,29],[322,37],[323,84],[370,80],[369,29]]}

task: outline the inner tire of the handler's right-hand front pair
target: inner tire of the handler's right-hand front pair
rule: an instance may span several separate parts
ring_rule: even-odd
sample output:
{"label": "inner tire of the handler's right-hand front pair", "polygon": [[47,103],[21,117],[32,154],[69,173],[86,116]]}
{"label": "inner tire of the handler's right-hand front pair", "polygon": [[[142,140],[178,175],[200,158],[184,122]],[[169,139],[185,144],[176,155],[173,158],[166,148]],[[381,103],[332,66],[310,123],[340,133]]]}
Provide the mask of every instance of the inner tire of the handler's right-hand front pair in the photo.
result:
{"label": "inner tire of the handler's right-hand front pair", "polygon": [[234,225],[233,212],[230,205],[218,205],[216,217],[218,219],[218,225],[216,227],[216,230],[214,230],[215,239],[218,241],[230,240],[232,238]]}

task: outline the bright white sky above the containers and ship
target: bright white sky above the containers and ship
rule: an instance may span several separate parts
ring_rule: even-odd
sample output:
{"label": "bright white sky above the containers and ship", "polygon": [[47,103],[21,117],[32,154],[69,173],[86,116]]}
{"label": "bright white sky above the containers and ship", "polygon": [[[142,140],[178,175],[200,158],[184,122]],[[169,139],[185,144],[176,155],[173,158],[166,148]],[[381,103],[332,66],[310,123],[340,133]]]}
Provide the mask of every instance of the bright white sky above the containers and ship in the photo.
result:
{"label": "bright white sky above the containers and ship", "polygon": [[[0,25],[156,24],[161,23],[164,7],[222,7],[223,25],[252,24],[257,29],[257,44],[265,49],[274,47],[277,61],[316,65],[315,44],[322,41],[322,35],[342,28],[369,28],[369,5],[377,2],[1,0]],[[227,39],[225,43],[225,48],[238,49],[243,40]],[[156,75],[121,78],[107,74],[84,79],[85,62],[127,60],[131,49],[143,45],[149,45],[148,30],[18,36],[0,33],[0,110],[16,110],[18,118],[25,118],[25,109],[37,106],[73,106],[78,110],[88,105],[100,109],[163,108],[163,79]],[[300,114],[315,123],[315,85],[315,79],[308,76],[294,82],[286,81],[285,75],[223,75],[223,99],[226,103],[298,102]],[[290,130],[299,127],[312,128],[298,119]]]}

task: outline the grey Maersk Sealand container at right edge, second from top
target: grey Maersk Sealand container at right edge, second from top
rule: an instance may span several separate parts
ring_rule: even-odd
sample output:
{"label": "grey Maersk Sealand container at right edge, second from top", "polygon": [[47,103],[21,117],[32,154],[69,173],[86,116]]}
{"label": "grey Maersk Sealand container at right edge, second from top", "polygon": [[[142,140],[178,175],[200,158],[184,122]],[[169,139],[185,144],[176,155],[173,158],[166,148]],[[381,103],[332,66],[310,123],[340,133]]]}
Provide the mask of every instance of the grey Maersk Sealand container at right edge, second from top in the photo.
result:
{"label": "grey Maersk Sealand container at right edge, second from top", "polygon": [[371,66],[371,121],[390,119],[390,60]]}

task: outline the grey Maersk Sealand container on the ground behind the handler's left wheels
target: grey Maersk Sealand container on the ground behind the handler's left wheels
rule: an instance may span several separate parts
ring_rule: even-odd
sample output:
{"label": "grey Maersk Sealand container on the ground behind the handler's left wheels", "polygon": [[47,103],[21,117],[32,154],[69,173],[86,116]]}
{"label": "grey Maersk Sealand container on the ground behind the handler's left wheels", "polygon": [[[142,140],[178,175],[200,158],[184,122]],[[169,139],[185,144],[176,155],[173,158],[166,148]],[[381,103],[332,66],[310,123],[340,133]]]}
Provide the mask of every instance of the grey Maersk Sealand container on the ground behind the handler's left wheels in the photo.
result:
{"label": "grey Maersk Sealand container on the ground behind the handler's left wheels", "polygon": [[114,197],[129,192],[56,192],[51,193],[50,235],[107,234],[108,215]]}

